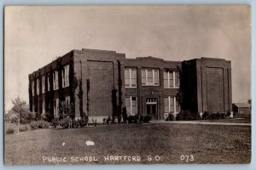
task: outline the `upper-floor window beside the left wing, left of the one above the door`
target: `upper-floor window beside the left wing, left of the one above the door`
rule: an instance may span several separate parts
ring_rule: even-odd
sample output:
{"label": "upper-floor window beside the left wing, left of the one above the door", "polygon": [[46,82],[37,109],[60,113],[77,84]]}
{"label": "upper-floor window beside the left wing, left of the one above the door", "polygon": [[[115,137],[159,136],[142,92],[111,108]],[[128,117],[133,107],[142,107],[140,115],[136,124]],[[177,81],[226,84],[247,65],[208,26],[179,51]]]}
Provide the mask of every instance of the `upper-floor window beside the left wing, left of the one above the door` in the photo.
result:
{"label": "upper-floor window beside the left wing, left of the one above the door", "polygon": [[125,68],[125,88],[137,87],[137,70]]}

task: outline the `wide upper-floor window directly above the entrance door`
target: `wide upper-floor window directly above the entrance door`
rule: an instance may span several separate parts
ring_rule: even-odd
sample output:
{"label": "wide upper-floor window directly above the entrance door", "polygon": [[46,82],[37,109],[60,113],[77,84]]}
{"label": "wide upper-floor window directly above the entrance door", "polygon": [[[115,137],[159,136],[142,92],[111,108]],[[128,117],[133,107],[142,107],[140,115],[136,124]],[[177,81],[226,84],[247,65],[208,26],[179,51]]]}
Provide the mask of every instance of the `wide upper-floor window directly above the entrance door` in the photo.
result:
{"label": "wide upper-floor window directly above the entrance door", "polygon": [[143,86],[159,86],[159,70],[142,69],[142,85]]}

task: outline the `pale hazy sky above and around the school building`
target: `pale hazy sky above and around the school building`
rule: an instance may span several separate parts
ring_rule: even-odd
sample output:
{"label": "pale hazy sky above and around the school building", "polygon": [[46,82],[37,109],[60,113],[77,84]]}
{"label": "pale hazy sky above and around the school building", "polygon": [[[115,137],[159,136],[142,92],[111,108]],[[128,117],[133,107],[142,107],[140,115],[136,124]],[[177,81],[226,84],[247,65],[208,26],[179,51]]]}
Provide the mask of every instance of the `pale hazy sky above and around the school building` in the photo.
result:
{"label": "pale hazy sky above and around the school building", "polygon": [[55,6],[4,10],[4,105],[28,102],[28,74],[73,49],[96,48],[168,60],[231,60],[232,102],[251,99],[251,8]]}

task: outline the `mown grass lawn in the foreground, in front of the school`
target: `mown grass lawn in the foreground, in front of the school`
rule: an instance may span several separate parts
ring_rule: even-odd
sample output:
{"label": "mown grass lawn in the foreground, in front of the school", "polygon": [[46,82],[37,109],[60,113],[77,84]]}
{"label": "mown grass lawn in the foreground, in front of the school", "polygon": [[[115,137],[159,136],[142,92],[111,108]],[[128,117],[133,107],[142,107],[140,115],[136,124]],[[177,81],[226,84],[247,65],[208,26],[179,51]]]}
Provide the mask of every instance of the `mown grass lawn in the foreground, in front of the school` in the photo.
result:
{"label": "mown grass lawn in the foreground, in front of the school", "polygon": [[[87,146],[87,140],[95,145]],[[251,127],[148,123],[38,129],[5,135],[4,148],[4,161],[12,165],[249,163]],[[187,157],[182,161],[182,155],[194,161],[186,162]],[[95,156],[95,161],[84,161],[85,156]],[[121,161],[104,161],[104,156],[140,156],[140,161],[124,161],[124,157]],[[47,157],[49,161],[43,161]],[[53,162],[52,157],[59,162]]]}

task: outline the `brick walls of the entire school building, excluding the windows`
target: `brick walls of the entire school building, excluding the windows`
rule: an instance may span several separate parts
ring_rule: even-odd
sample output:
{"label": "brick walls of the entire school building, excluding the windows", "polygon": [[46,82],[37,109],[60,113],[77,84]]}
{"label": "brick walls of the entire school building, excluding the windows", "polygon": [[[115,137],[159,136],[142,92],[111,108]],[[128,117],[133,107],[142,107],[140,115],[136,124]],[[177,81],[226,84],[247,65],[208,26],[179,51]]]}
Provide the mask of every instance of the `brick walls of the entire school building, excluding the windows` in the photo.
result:
{"label": "brick walls of the entire school building, excluding the windows", "polygon": [[[69,87],[61,88],[61,70],[69,65]],[[137,69],[137,88],[125,88],[125,68]],[[159,86],[143,86],[141,71],[152,68],[159,71]],[[164,71],[179,71],[180,88],[164,88]],[[53,72],[59,71],[59,89],[53,90]],[[42,77],[45,77],[45,94],[42,94]],[[47,77],[50,80],[48,89]],[[36,80],[40,81],[37,95]],[[34,87],[32,87],[34,81]],[[32,88],[35,95],[32,96]],[[156,120],[163,119],[165,97],[176,97],[182,110],[231,111],[231,63],[225,59],[191,59],[166,61],[154,57],[125,59],[125,54],[115,51],[83,49],[73,50],[55,59],[29,75],[29,103],[34,111],[45,111],[53,117],[54,99],[70,96],[73,117],[90,116],[97,122],[103,117],[119,116],[125,107],[125,97],[137,97],[137,113],[147,115],[148,98],[157,100]],[[114,94],[113,94],[114,90]],[[120,94],[120,97],[119,97]],[[114,98],[113,98],[114,96]],[[121,102],[121,105],[119,105]]]}

